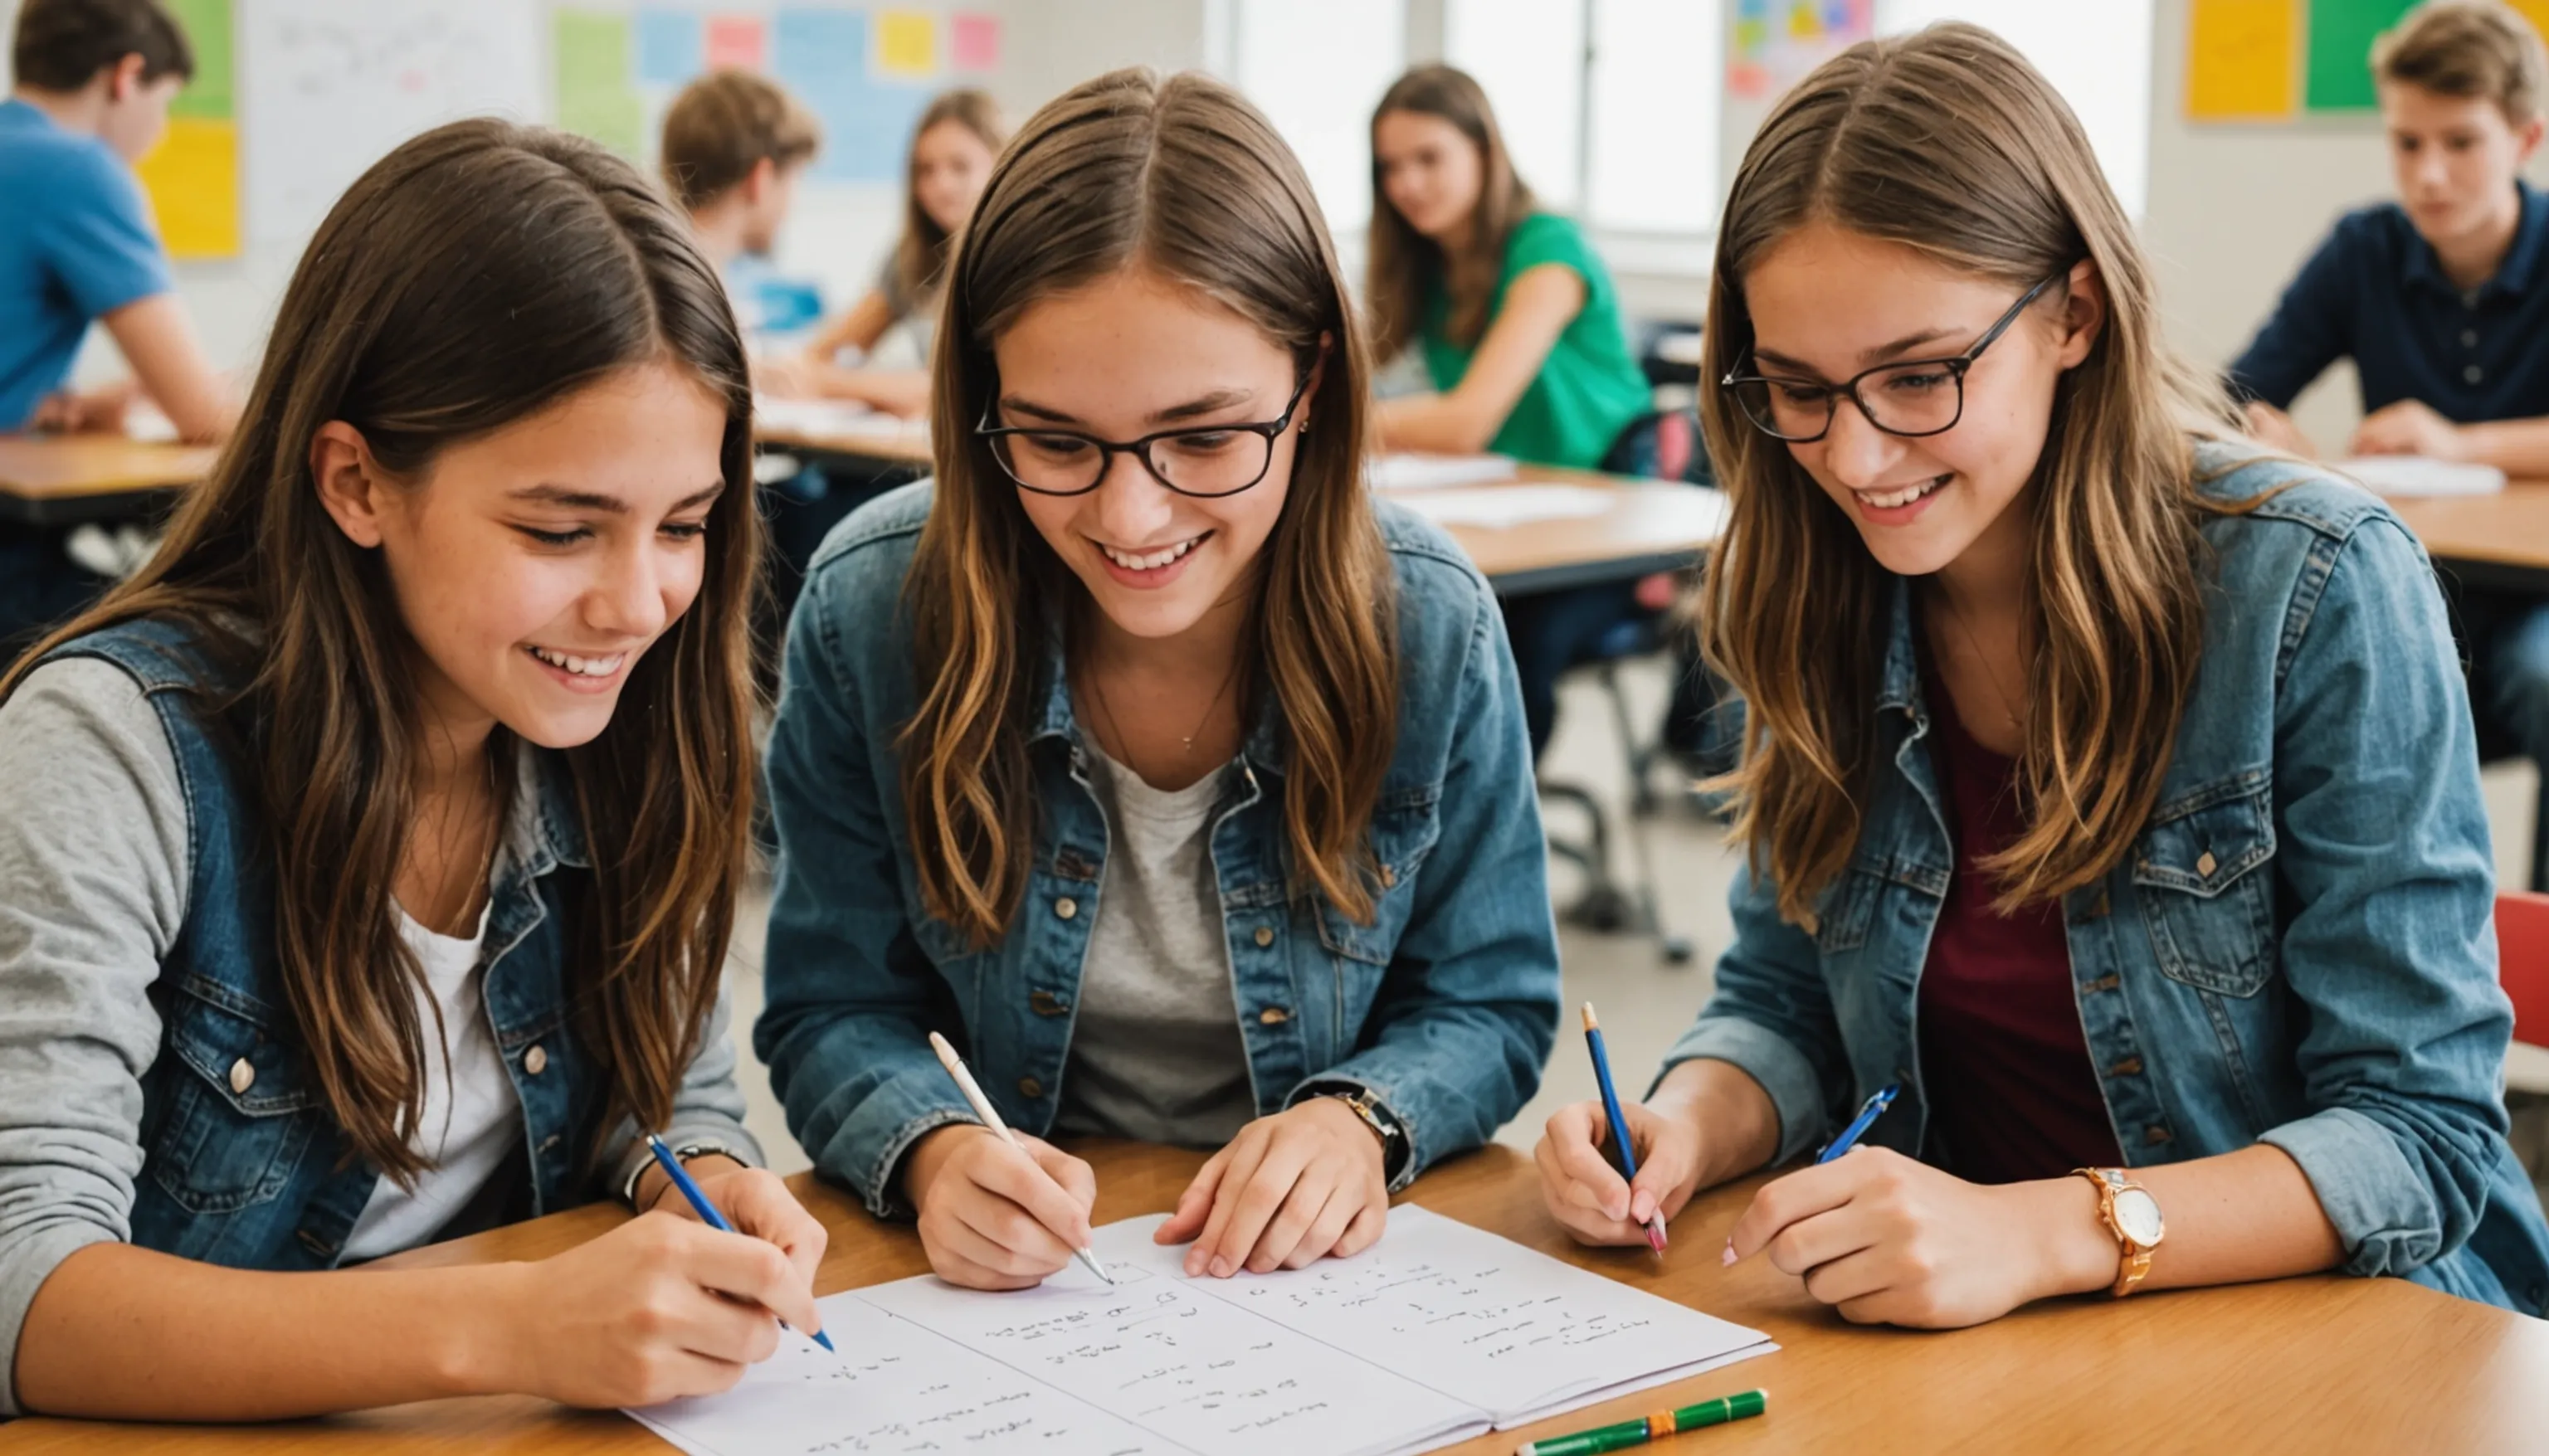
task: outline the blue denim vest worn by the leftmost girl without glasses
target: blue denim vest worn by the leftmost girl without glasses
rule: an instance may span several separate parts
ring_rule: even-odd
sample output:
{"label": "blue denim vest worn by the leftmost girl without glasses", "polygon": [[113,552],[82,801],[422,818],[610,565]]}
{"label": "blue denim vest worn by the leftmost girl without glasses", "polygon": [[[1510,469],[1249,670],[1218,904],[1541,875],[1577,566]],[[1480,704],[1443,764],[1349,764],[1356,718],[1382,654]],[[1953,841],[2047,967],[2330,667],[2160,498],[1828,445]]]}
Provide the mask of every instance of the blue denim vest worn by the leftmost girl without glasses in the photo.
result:
{"label": "blue denim vest worn by the leftmost girl without glasses", "polygon": [[[130,673],[168,729],[194,852],[186,926],[153,984],[161,1056],[143,1079],[143,1176],[130,1242],[242,1270],[326,1270],[380,1173],[329,1117],[275,966],[273,867],[227,729],[204,717],[227,683],[191,635],[130,622],[51,658],[102,658]],[[630,1127],[596,1155],[602,1081],[568,1025],[566,913],[589,872],[584,834],[553,755],[525,755],[523,793],[492,887],[484,1005],[523,1102],[512,1214],[535,1216],[617,1191]],[[538,1056],[533,1056],[538,1053]],[[247,1066],[242,1076],[237,1068]],[[755,1158],[742,1130],[724,1017],[678,1096],[673,1137]]]}

